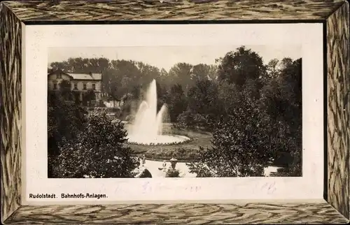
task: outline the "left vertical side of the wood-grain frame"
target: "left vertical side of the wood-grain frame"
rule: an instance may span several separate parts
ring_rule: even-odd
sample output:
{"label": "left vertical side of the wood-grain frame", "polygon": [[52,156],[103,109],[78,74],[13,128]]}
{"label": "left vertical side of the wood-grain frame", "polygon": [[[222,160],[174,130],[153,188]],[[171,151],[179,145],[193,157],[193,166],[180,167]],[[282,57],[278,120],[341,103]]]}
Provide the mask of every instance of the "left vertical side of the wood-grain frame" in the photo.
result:
{"label": "left vertical side of the wood-grain frame", "polygon": [[21,22],[1,4],[0,84],[1,84],[1,218],[21,203]]}

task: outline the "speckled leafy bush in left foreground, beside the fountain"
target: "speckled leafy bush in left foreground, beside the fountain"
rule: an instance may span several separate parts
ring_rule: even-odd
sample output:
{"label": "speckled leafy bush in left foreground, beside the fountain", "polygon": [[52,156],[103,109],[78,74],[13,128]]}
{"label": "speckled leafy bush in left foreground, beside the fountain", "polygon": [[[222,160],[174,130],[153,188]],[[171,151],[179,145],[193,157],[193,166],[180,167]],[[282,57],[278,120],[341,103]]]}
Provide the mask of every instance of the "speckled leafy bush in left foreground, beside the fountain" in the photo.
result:
{"label": "speckled leafy bush in left foreground, beside the fountain", "polygon": [[123,122],[112,123],[106,112],[87,116],[87,127],[74,140],[60,145],[57,177],[134,177],[137,168]]}

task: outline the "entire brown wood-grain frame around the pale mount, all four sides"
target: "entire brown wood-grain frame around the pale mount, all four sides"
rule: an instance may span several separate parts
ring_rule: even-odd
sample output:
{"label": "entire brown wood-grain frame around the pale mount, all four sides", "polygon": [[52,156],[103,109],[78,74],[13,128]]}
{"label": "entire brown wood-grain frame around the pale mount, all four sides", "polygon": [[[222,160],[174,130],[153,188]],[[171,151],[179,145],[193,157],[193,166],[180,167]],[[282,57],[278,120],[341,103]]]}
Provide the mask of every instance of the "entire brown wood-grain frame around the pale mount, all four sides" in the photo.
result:
{"label": "entire brown wood-grain frame around the pale mount, all four sides", "polygon": [[[325,196],[304,203],[21,205],[22,26],[108,22],[322,22]],[[244,224],[349,222],[349,3],[346,1],[3,1],[0,3],[1,222]]]}

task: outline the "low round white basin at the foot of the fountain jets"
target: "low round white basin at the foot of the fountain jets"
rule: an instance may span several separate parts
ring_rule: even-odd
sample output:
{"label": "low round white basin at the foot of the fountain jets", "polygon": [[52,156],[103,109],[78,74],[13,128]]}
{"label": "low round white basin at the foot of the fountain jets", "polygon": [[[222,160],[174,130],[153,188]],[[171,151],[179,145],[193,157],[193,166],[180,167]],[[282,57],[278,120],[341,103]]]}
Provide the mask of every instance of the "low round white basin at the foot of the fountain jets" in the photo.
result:
{"label": "low round white basin at the foot of the fountain jets", "polygon": [[158,136],[127,136],[127,143],[134,145],[176,145],[190,141],[190,138],[180,135]]}

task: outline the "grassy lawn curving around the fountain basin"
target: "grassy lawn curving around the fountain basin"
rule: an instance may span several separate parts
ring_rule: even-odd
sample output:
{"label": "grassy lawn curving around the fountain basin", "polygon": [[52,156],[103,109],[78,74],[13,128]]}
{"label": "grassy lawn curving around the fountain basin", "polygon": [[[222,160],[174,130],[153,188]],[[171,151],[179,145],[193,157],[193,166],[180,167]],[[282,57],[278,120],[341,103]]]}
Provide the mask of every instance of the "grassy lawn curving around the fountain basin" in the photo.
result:
{"label": "grassy lawn curving around the fountain basin", "polygon": [[191,140],[188,143],[176,145],[127,145],[132,148],[134,154],[145,154],[148,159],[169,160],[175,157],[179,161],[193,161],[197,158],[200,146],[204,148],[211,146],[212,135],[207,131],[169,127],[166,130],[167,133],[187,136]]}

